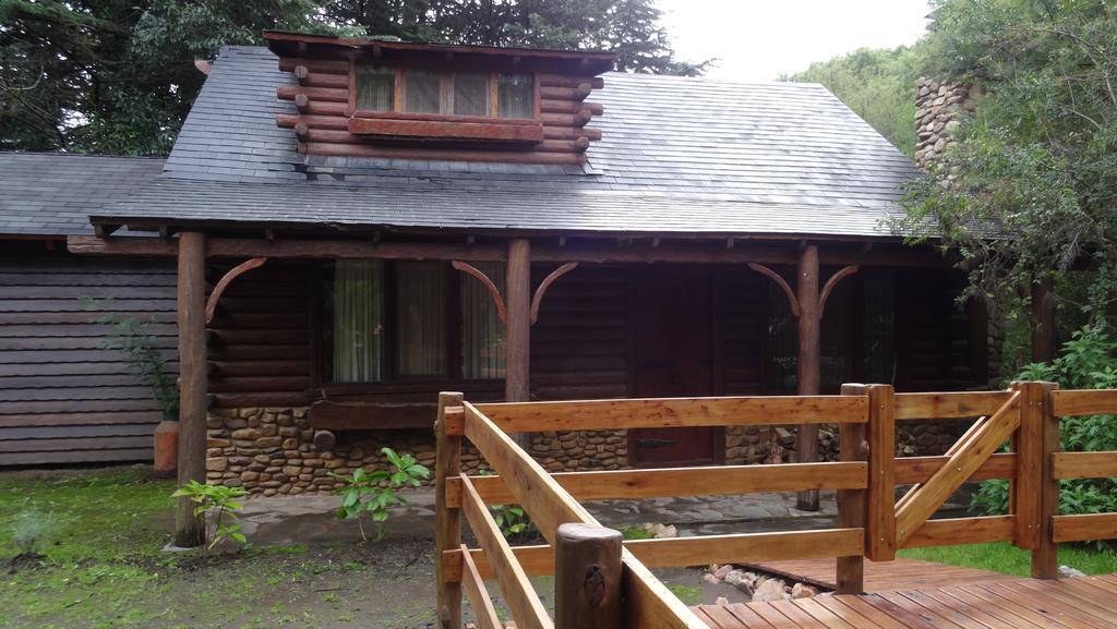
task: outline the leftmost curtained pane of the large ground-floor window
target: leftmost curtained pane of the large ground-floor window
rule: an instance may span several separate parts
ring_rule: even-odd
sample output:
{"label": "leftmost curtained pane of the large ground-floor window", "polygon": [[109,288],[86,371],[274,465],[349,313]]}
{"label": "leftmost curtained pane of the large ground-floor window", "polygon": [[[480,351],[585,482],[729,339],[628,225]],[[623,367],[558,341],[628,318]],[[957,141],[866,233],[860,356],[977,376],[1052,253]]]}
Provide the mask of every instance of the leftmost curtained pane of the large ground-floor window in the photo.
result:
{"label": "leftmost curtained pane of the large ground-floor window", "polygon": [[383,379],[384,288],[379,260],[334,266],[334,382]]}

